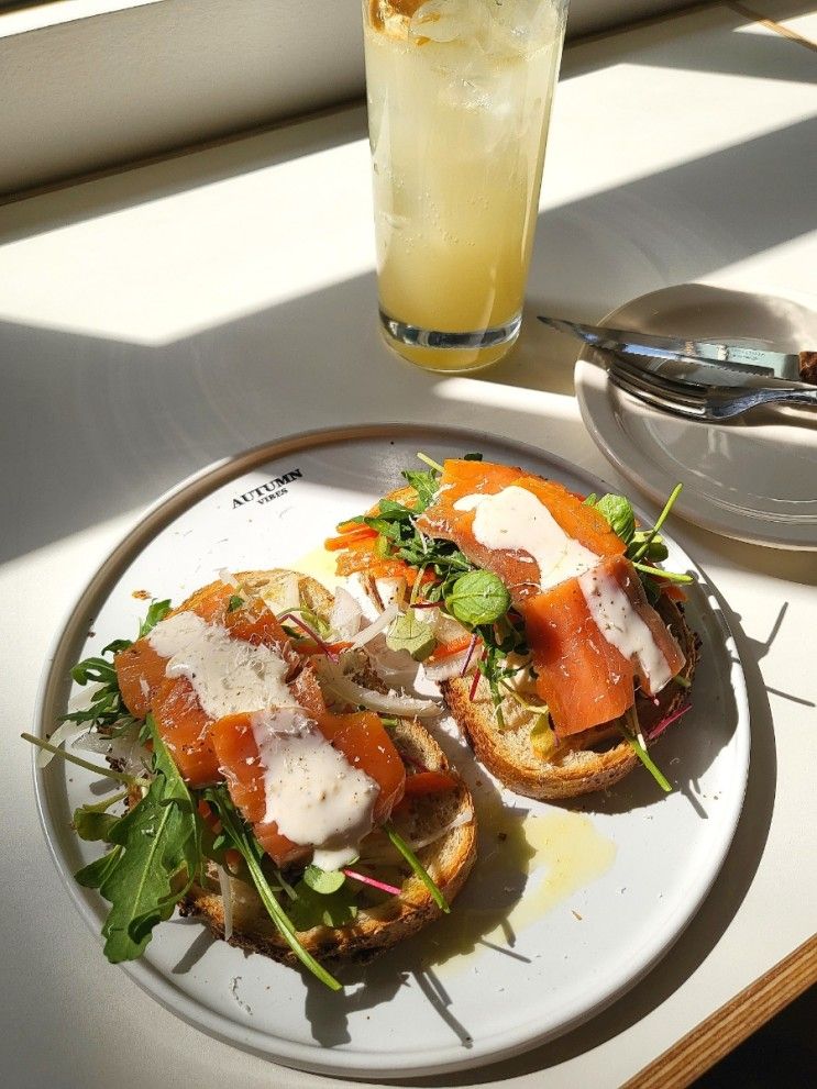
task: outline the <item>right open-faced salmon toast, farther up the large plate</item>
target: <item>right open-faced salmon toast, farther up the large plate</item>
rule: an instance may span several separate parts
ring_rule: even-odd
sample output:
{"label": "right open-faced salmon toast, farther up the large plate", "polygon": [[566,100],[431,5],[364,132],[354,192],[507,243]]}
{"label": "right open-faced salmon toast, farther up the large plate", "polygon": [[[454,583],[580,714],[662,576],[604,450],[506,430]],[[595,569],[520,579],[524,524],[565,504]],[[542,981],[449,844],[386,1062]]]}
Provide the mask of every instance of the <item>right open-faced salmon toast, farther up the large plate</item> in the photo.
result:
{"label": "right open-faced salmon toast, farther up the large plate", "polygon": [[389,645],[440,682],[503,784],[556,799],[606,788],[688,707],[698,638],[686,574],[621,496],[578,496],[478,455],[404,473],[339,527],[338,571],[397,615]]}

